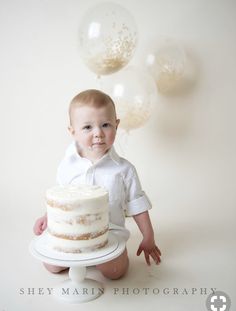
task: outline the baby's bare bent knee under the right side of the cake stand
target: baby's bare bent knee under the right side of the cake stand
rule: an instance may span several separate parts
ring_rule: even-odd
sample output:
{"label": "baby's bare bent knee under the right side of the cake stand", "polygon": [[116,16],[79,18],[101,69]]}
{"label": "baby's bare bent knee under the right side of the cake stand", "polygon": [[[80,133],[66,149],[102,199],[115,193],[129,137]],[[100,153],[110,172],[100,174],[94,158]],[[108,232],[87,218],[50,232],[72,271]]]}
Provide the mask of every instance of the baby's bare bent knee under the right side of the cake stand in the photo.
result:
{"label": "baby's bare bent knee under the right side of the cake stand", "polygon": [[103,264],[97,265],[96,267],[102,272],[105,277],[111,280],[117,280],[126,273],[126,271],[128,270],[128,266],[129,258],[127,255],[127,249],[125,249],[119,257]]}

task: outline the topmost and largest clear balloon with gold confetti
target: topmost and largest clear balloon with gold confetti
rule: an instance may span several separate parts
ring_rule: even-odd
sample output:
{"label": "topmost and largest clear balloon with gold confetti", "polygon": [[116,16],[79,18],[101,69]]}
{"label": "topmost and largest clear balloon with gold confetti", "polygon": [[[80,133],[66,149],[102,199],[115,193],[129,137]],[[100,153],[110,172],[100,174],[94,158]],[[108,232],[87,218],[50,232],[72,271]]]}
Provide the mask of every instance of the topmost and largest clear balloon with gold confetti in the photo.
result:
{"label": "topmost and largest clear balloon with gold confetti", "polygon": [[108,75],[128,64],[137,37],[132,15],[118,4],[103,2],[91,8],[80,24],[80,54],[90,70]]}

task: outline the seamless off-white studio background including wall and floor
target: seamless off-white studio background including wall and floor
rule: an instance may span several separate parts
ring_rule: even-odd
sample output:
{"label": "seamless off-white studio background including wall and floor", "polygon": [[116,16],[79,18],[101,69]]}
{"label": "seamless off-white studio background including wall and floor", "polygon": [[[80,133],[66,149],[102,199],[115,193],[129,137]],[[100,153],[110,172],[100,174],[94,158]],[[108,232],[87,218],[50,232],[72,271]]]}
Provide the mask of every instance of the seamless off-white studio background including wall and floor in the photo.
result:
{"label": "seamless off-white studio background including wall and floor", "polygon": [[[45,212],[44,194],[71,138],[71,98],[98,87],[78,54],[78,25],[95,0],[0,1],[0,310],[64,310],[50,297],[19,295],[19,288],[53,287],[28,252],[32,227]],[[236,3],[233,0],[117,0],[136,19],[139,64],[150,40],[181,42],[196,71],[191,89],[161,96],[152,118],[125,136],[117,152],[137,168],[163,256],[147,267],[135,253],[141,235],[128,226],[130,271],[119,287],[207,287],[235,298]],[[106,286],[114,287],[106,280]],[[117,285],[118,286],[118,285]],[[103,309],[109,291],[81,310]],[[205,298],[119,297],[114,310],[205,310]],[[20,306],[20,307],[19,307]],[[77,306],[69,306],[77,310]]]}

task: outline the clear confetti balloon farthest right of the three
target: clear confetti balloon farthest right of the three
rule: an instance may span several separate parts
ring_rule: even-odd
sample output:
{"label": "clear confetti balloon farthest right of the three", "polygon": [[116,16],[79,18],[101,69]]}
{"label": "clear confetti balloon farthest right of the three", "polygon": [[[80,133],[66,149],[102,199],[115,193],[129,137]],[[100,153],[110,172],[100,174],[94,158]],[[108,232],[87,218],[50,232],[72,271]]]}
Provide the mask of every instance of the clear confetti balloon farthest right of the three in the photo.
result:
{"label": "clear confetti balloon farthest right of the three", "polygon": [[146,53],[145,63],[156,81],[159,92],[172,91],[185,71],[186,55],[174,40],[166,39]]}

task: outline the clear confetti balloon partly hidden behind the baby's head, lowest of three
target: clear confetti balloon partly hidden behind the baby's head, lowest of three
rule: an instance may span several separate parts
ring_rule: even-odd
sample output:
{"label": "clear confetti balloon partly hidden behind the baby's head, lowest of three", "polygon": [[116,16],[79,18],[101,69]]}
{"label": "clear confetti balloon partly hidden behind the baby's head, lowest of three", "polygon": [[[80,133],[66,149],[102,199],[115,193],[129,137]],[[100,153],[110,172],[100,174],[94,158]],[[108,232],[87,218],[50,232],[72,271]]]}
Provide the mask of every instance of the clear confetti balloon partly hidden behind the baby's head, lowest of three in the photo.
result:
{"label": "clear confetti balloon partly hidden behind the baby's head, lowest of three", "polygon": [[147,72],[129,66],[104,80],[103,88],[115,102],[120,128],[129,131],[147,122],[157,101],[155,82]]}

